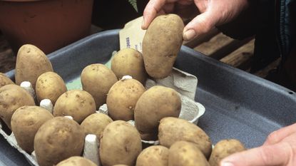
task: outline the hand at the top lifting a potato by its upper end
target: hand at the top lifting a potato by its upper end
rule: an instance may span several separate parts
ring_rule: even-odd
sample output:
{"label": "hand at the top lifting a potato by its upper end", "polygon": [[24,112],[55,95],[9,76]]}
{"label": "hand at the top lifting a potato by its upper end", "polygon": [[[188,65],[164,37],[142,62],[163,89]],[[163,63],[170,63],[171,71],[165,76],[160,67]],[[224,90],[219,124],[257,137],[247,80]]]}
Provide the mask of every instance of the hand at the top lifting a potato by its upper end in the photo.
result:
{"label": "hand at the top lifting a potato by its upper end", "polygon": [[143,12],[142,28],[148,28],[158,14],[171,13],[175,6],[184,9],[180,6],[189,6],[193,3],[201,14],[185,26],[183,38],[186,41],[235,19],[235,16],[247,7],[247,0],[150,0]]}

